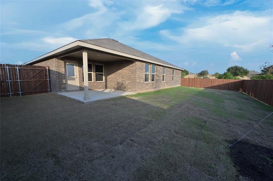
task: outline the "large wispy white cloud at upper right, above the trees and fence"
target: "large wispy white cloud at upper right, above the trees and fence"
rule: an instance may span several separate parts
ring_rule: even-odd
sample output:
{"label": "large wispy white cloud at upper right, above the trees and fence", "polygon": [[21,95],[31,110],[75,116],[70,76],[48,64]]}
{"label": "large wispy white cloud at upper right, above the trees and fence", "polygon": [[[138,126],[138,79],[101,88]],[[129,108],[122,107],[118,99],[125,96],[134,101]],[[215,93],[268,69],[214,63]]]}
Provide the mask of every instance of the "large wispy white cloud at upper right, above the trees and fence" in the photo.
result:
{"label": "large wispy white cloud at upper right, above the trees and fence", "polygon": [[162,36],[187,46],[204,43],[240,48],[243,52],[267,45],[272,38],[272,17],[267,11],[252,13],[236,11],[214,17],[204,17],[186,28],[161,30]]}

